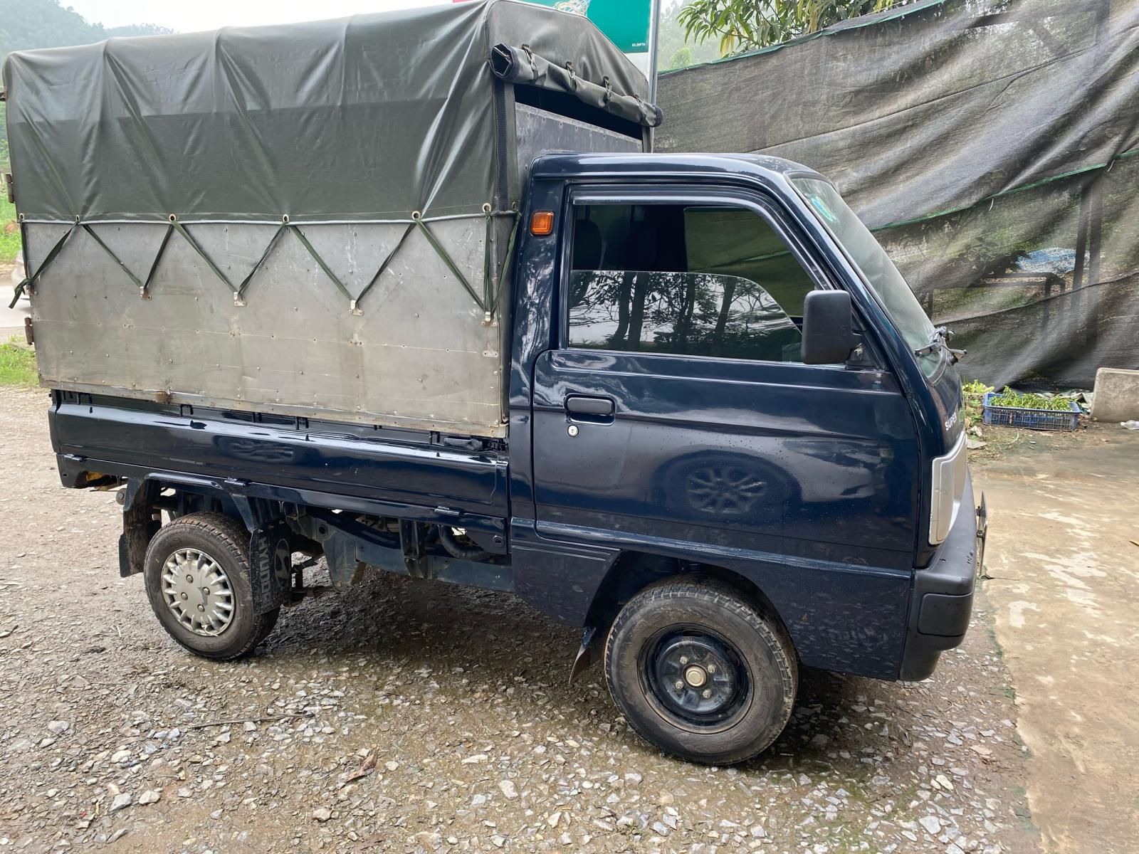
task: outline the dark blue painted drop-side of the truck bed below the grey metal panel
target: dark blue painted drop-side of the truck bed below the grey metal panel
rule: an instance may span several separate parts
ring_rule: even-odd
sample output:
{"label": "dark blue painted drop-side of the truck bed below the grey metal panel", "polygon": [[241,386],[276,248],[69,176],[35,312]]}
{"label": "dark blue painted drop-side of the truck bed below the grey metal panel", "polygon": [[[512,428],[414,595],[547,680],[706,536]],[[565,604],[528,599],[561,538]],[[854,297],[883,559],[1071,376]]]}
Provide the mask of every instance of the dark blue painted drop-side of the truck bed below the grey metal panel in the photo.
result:
{"label": "dark blue painted drop-side of the truck bed below the grey metal panel", "polygon": [[153,478],[296,504],[500,532],[499,442],[186,404],[56,392],[49,414],[65,486]]}

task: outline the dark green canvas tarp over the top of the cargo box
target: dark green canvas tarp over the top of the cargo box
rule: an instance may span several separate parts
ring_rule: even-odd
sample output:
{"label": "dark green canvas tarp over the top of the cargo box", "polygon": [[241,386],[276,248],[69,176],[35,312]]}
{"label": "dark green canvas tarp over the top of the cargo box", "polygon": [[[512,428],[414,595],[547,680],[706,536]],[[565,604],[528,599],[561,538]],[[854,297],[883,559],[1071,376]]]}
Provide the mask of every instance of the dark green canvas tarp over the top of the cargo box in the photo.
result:
{"label": "dark green canvas tarp over the top of the cargo box", "polygon": [[492,156],[497,44],[607,79],[626,109],[647,95],[585,18],[509,0],[18,52],[3,68],[18,210],[279,221],[499,207],[517,187]]}

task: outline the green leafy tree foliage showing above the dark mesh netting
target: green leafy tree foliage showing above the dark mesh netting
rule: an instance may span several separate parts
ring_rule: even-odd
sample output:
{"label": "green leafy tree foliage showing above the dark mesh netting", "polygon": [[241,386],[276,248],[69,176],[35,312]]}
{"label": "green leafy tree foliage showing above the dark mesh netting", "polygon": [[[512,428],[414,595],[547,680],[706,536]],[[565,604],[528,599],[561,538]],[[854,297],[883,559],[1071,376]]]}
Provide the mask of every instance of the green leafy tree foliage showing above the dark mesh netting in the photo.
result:
{"label": "green leafy tree foliage showing above the dark mesh netting", "polygon": [[739,54],[817,32],[839,20],[910,0],[693,0],[678,20],[686,39],[718,39],[720,54]]}

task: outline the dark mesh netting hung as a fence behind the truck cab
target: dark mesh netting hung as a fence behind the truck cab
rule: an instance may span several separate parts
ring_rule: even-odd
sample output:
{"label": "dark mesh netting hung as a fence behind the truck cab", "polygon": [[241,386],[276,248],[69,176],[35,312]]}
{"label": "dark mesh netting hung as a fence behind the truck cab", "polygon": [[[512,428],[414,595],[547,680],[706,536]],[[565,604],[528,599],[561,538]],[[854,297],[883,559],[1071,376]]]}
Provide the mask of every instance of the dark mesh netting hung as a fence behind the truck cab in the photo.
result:
{"label": "dark mesh netting hung as a fence behind the truck cab", "polygon": [[967,377],[1139,368],[1139,0],[918,0],[664,75],[661,150],[835,181]]}

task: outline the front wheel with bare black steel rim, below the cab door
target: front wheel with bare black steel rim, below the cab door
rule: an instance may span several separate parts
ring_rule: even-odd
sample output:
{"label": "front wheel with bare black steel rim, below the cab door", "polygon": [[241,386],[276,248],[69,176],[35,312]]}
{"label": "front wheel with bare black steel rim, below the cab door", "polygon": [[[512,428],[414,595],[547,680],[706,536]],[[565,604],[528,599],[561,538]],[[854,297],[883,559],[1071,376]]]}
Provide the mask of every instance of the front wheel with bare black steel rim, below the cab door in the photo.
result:
{"label": "front wheel with bare black steel rim, below the cab door", "polygon": [[782,626],[727,584],[700,578],[661,582],[622,608],[605,643],[605,675],[641,738],[715,765],[765,750],[787,725],[798,689]]}

